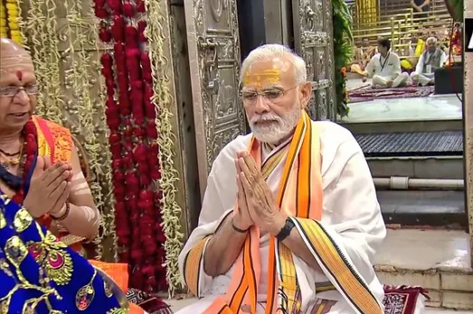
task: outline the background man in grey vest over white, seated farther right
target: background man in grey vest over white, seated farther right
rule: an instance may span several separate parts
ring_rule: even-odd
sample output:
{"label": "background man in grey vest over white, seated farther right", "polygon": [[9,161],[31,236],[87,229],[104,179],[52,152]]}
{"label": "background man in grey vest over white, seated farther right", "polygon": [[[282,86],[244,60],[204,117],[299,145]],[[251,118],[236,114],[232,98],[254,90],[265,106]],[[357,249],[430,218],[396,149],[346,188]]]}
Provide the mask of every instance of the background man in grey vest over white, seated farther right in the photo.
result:
{"label": "background man in grey vest over white, seated farther right", "polygon": [[427,39],[427,50],[421,54],[415,71],[411,73],[412,80],[421,86],[432,85],[435,70],[443,67],[448,60],[447,54],[439,48],[437,43],[434,37]]}

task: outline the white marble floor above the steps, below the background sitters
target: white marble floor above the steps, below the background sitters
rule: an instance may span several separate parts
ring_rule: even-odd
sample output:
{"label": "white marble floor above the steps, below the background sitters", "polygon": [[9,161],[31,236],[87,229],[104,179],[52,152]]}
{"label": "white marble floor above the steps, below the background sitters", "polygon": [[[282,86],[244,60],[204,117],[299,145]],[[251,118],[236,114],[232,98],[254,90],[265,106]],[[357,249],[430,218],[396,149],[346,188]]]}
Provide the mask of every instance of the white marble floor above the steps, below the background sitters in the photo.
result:
{"label": "white marble floor above the steps, below the background sitters", "polygon": [[[346,88],[353,89],[369,84],[360,78],[347,80]],[[461,97],[461,96],[460,96]],[[454,94],[431,95],[429,97],[389,98],[348,104],[350,113],[342,119],[345,123],[461,120],[462,107]]]}

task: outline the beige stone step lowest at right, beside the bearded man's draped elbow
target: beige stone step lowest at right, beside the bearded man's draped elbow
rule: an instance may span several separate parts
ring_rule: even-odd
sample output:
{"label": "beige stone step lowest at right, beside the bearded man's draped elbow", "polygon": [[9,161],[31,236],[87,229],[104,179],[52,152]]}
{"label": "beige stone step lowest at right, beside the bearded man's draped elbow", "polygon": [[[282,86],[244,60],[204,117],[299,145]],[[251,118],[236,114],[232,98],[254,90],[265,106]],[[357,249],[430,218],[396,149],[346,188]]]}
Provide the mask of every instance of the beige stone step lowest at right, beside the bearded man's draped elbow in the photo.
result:
{"label": "beige stone step lowest at right, beside the bearded man's draped elbow", "polygon": [[388,230],[375,257],[384,284],[420,285],[428,306],[473,309],[470,235],[456,230]]}

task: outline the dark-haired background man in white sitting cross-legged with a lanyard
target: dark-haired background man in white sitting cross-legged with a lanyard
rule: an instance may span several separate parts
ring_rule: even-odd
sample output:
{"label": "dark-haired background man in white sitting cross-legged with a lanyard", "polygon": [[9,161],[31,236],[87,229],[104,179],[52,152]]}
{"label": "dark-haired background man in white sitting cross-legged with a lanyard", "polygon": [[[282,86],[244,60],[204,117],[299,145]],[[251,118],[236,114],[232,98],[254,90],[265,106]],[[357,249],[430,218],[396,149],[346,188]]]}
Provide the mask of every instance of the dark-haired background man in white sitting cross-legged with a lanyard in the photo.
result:
{"label": "dark-haired background man in white sitting cross-legged with a lanyard", "polygon": [[405,85],[409,75],[401,72],[399,56],[390,51],[389,39],[378,40],[378,53],[366,66],[365,77],[373,78],[374,88],[397,88]]}

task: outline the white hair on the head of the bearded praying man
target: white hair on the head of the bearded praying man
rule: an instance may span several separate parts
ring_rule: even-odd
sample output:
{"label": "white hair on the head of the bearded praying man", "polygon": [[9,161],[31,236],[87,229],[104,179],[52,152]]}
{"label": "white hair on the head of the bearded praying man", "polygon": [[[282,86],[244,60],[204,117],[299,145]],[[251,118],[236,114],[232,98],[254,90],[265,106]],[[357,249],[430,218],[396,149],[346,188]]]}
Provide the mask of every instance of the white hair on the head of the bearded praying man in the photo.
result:
{"label": "white hair on the head of the bearded praying man", "polygon": [[307,81],[306,61],[300,58],[288,47],[280,45],[279,43],[265,44],[251,51],[248,57],[246,57],[241,64],[240,82],[243,81],[243,76],[254,62],[270,60],[274,57],[287,56],[289,56],[289,61],[294,66],[294,78],[296,80],[296,84],[305,83]]}

